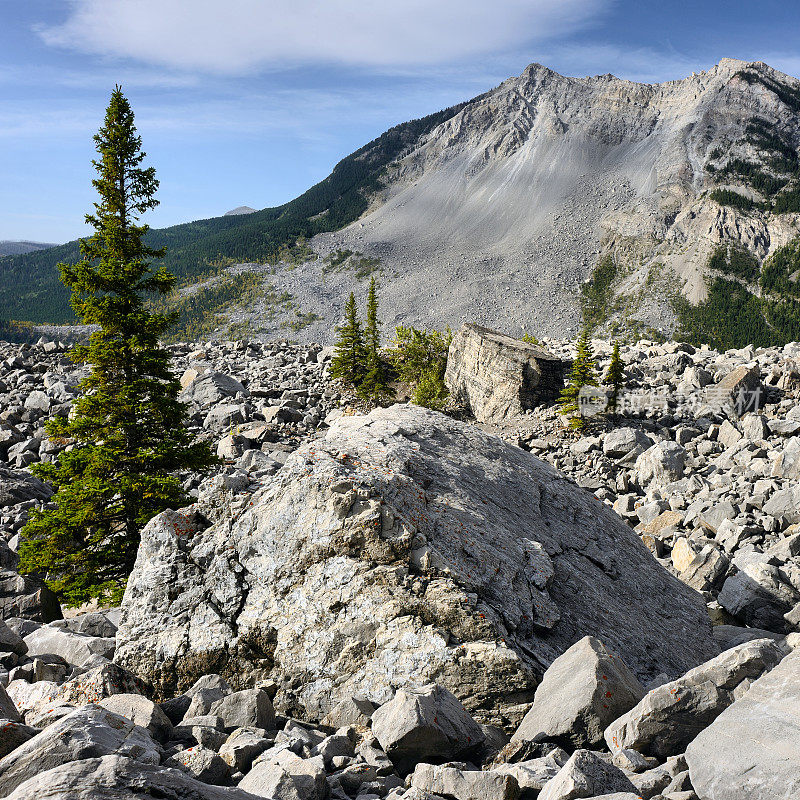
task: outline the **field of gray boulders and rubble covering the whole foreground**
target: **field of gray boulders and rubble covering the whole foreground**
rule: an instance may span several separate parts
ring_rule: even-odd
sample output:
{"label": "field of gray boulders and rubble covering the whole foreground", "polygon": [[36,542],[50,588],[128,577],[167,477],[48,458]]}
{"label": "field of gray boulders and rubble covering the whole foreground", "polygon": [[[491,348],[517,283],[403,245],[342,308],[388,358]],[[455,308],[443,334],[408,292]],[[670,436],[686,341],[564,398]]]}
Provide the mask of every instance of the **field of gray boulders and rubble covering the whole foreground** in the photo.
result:
{"label": "field of gray boulders and rubble covering the whole foreground", "polygon": [[81,372],[0,343],[0,797],[798,796],[800,344],[623,347],[582,437],[353,413],[317,345],[172,352],[224,465],[62,615],[15,551]]}

